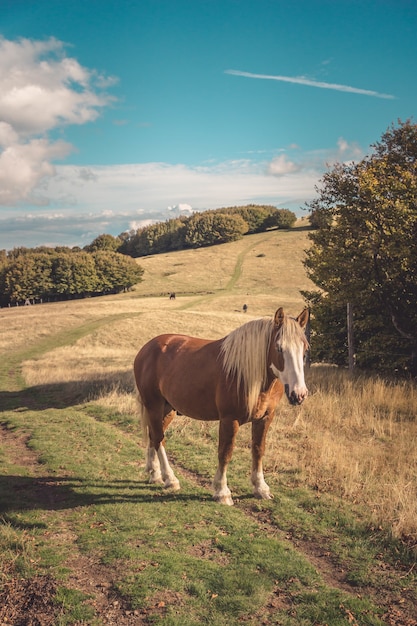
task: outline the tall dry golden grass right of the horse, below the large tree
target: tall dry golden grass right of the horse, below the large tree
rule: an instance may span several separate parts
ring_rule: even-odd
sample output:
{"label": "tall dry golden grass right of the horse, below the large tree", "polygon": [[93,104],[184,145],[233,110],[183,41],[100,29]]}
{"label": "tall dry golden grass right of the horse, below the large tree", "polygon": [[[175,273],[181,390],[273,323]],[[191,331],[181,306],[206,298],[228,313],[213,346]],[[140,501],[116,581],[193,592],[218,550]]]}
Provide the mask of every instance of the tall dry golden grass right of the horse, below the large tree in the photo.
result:
{"label": "tall dry golden grass right of the horse, below the large tree", "polygon": [[[413,383],[312,367],[311,395],[281,408],[268,459],[320,491],[363,504],[375,526],[417,540],[417,392]],[[284,449],[284,456],[281,455]]]}

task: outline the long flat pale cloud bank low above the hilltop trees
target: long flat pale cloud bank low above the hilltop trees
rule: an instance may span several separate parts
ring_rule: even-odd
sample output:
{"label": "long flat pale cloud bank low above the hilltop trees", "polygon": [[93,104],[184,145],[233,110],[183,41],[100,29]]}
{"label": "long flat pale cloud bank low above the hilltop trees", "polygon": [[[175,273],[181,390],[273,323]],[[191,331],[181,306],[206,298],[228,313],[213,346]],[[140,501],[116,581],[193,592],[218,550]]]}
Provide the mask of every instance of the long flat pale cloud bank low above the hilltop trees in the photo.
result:
{"label": "long flat pale cloud bank low above the hilltop trees", "polygon": [[302,215],[326,164],[362,156],[358,146],[341,138],[330,150],[300,153],[293,146],[263,162],[57,166],[39,190],[51,208],[3,210],[0,249],[83,247],[101,233],[119,235],[192,210],[224,206],[272,204]]}

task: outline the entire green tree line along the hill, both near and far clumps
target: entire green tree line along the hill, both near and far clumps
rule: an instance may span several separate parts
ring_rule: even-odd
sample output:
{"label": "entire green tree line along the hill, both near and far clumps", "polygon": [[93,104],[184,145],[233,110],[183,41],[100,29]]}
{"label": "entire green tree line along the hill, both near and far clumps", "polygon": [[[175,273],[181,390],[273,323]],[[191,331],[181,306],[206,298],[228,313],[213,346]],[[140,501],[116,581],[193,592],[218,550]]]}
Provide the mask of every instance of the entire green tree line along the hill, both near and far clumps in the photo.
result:
{"label": "entire green tree line along the hill, both near and far clumps", "polygon": [[0,251],[0,306],[119,293],[142,280],[134,258],[227,243],[268,228],[289,228],[288,209],[248,205],[158,222],[118,237],[102,234],[83,249]]}

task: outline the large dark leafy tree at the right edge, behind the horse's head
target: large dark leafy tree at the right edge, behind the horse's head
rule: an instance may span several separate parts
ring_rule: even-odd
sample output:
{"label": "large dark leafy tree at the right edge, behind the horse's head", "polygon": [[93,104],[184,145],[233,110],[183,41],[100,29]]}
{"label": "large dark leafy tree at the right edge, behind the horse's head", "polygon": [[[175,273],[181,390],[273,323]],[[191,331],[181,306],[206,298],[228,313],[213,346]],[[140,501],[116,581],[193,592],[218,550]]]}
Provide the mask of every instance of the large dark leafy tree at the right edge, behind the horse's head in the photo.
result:
{"label": "large dark leafy tree at the right edge, behind the horse's head", "polygon": [[309,205],[317,230],[305,265],[323,291],[313,314],[324,319],[351,302],[358,364],[415,374],[417,125],[399,122],[373,147],[327,172]]}

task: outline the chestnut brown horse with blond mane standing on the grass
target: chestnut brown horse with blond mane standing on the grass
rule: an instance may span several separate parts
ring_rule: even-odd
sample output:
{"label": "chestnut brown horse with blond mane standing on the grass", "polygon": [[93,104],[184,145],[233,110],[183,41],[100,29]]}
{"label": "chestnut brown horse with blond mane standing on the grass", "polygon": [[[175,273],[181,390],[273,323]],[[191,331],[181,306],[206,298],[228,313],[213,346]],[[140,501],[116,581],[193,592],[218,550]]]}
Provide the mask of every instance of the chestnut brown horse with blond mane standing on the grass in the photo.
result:
{"label": "chestnut brown horse with blond mane standing on the grass", "polygon": [[308,309],[292,318],[280,307],[273,318],[251,320],[221,339],[164,334],[141,348],[134,375],[149,482],[180,488],[165,450],[165,431],[176,414],[218,420],[213,497],[233,505],[227,468],[238,430],[250,422],[253,492],[257,498],[273,497],[262,467],[266,435],[284,393],[293,405],[307,397],[304,354],[308,319]]}

